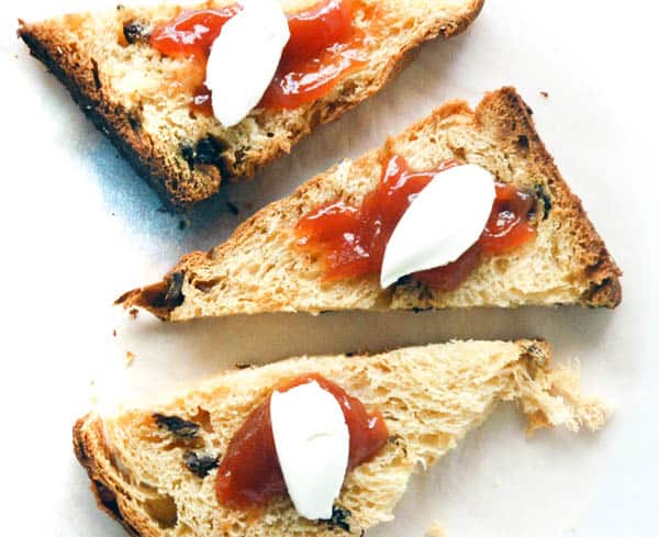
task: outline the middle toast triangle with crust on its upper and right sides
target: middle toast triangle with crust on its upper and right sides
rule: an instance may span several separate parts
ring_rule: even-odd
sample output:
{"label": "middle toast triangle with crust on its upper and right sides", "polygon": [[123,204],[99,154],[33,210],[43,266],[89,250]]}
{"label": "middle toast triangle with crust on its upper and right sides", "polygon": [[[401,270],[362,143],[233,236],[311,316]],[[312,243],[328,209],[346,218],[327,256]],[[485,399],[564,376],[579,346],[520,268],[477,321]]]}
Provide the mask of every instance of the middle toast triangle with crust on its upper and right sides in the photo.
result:
{"label": "middle toast triangle with crust on its upper and right sides", "polygon": [[[225,244],[183,257],[161,282],[118,302],[169,321],[281,311],[615,307],[622,299],[621,271],[545,149],[530,114],[512,88],[488,93],[476,111],[462,101],[448,102],[383,148],[311,179],[256,213]],[[458,158],[483,166],[499,181],[534,189],[541,204],[535,239],[484,259],[450,292],[414,279],[386,291],[377,277],[324,281],[320,261],[295,247],[297,223],[323,203],[362,199],[378,184],[381,161],[390,154],[402,155],[414,169]]]}

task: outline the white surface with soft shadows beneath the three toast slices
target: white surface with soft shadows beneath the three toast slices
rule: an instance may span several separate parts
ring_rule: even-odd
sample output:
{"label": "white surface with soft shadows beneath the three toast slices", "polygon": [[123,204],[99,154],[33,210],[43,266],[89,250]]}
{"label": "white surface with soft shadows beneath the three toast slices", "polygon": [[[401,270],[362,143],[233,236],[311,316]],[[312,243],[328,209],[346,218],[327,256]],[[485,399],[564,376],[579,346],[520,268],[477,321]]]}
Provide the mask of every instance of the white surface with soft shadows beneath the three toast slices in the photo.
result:
{"label": "white surface with soft shadows beneath the three toast slices", "polygon": [[[76,463],[70,427],[93,404],[153,393],[235,362],[379,350],[451,337],[541,336],[581,360],[584,389],[616,409],[600,434],[532,440],[502,406],[425,477],[377,536],[659,535],[659,211],[656,3],[488,0],[472,29],[425,46],[389,88],[306,138],[254,182],[179,217],[94,131],[15,38],[37,20],[111,2],[4,2],[2,156],[2,535],[112,537]],[[615,312],[266,315],[171,326],[111,306],[179,255],[224,239],[266,202],[345,156],[380,145],[447,98],[515,85],[541,136],[625,270]],[[540,96],[547,91],[549,98]],[[226,200],[241,208],[238,216]],[[468,202],[468,200],[466,200]],[[118,336],[112,336],[116,329]],[[136,360],[125,366],[131,350]]]}

